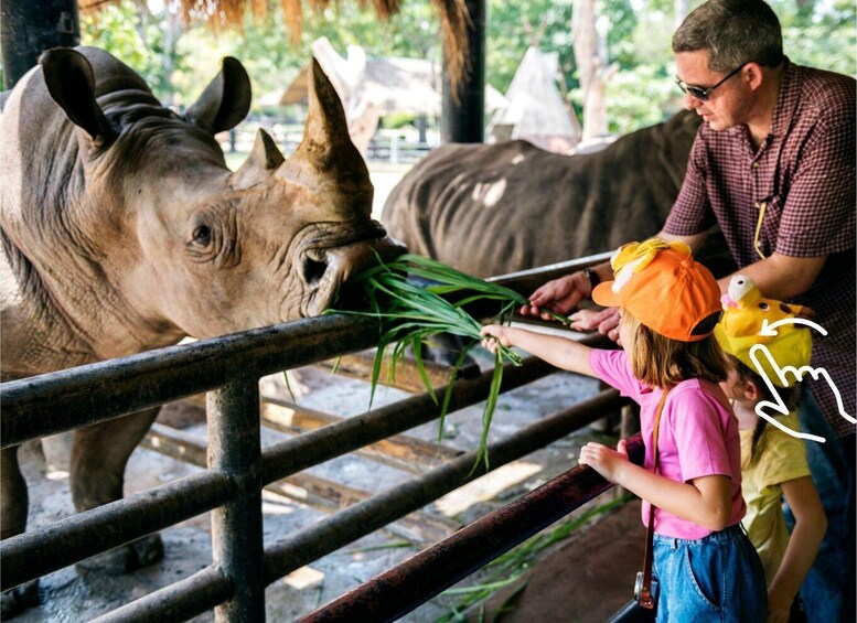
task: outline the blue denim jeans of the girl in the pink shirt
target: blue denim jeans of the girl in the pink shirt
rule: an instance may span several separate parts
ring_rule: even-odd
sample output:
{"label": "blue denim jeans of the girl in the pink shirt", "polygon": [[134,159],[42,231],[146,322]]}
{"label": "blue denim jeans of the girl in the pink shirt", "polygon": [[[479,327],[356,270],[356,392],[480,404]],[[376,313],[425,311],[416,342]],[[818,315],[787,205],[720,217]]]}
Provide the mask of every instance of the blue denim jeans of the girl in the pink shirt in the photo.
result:
{"label": "blue denim jeans of the girl in the pink shirt", "polygon": [[653,554],[658,622],[767,619],[762,562],[739,524],[695,540],[655,535]]}

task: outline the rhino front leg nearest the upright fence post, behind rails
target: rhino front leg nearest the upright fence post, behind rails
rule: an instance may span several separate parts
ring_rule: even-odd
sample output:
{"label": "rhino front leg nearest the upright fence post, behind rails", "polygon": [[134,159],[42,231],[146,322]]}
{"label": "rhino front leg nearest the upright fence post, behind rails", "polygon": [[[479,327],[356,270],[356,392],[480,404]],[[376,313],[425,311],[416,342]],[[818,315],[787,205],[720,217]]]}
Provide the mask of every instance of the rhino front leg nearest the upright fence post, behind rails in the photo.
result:
{"label": "rhino front leg nearest the upright fence post, behind rails", "polygon": [[[78,513],[122,497],[125,466],[158,416],[159,407],[77,429],[72,444],[71,486]],[[127,573],[163,558],[158,534],[93,556],[78,568]]]}

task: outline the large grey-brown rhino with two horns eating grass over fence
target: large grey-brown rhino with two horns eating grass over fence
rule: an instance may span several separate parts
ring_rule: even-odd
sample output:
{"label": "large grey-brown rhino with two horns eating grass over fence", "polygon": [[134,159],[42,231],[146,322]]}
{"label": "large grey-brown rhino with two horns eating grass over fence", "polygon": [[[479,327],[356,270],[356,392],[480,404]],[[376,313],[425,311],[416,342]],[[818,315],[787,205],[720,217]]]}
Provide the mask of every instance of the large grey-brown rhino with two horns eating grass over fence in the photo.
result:
{"label": "large grey-brown rhino with two horns eating grass over fence", "polygon": [[[3,380],[314,315],[373,249],[400,250],[369,217],[368,172],[318,63],[298,151],[283,161],[260,131],[235,173],[214,133],[249,108],[236,60],[183,116],[101,50],[40,63],[0,118]],[[122,496],[156,415],[75,431],[78,512]],[[26,523],[17,450],[2,451],[2,538]],[[127,571],[161,556],[152,535],[85,565]],[[32,589],[6,593],[3,613]]]}

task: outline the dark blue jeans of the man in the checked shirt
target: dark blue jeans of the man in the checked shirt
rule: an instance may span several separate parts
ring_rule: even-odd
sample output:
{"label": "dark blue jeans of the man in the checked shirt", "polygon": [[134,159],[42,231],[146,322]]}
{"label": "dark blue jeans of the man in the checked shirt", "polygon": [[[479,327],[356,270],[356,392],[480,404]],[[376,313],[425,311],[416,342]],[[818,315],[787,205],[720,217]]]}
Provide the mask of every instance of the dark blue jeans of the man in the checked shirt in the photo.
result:
{"label": "dark blue jeans of the man in the checked shirt", "polygon": [[[801,586],[801,599],[810,623],[850,623],[855,620],[854,436],[836,439],[806,386],[797,419],[804,432],[827,440],[805,442],[810,473],[827,515],[827,533]],[[791,529],[794,516],[788,505],[785,519]]]}

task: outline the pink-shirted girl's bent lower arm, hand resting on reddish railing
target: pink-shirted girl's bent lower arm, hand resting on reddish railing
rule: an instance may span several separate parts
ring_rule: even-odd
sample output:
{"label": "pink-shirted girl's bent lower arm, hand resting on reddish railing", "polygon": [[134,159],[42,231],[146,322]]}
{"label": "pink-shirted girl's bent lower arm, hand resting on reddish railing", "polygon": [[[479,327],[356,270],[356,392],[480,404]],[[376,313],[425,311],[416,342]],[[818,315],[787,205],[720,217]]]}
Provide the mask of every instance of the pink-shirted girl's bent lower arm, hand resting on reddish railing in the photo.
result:
{"label": "pink-shirted girl's bent lower arm, hand resting on reddish railing", "polygon": [[717,531],[729,525],[732,514],[729,476],[672,481],[630,462],[624,440],[619,442],[617,450],[590,441],[580,449],[579,463],[589,465],[608,481],[697,526]]}

